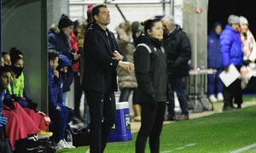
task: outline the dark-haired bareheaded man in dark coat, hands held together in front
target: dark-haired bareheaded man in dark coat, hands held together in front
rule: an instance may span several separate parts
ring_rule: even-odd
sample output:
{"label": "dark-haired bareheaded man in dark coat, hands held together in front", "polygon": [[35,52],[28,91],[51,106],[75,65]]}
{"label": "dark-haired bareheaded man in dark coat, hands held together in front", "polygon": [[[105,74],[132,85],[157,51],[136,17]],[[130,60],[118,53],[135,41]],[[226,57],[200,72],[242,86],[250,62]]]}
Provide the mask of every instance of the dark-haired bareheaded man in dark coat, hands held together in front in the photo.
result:
{"label": "dark-haired bareheaded man in dark coat, hands held together in front", "polygon": [[115,122],[116,67],[133,70],[134,65],[120,61],[116,40],[107,28],[107,5],[94,6],[91,14],[93,22],[84,38],[84,91],[90,109],[90,152],[100,153]]}

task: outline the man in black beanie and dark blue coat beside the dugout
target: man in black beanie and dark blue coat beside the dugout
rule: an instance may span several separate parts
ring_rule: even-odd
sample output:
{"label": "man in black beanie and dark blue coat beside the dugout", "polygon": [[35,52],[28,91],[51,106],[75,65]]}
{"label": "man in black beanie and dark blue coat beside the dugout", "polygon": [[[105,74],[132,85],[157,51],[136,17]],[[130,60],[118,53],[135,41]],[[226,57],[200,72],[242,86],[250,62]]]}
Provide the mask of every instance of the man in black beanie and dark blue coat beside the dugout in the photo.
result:
{"label": "man in black beanie and dark blue coat beside the dugout", "polygon": [[[48,48],[56,50],[59,54],[64,54],[72,61],[78,62],[79,54],[74,50],[71,36],[73,33],[73,21],[66,14],[61,15],[58,26],[53,24],[48,32]],[[66,100],[67,92],[73,82],[73,70],[67,71],[67,82],[63,84],[63,99]]]}

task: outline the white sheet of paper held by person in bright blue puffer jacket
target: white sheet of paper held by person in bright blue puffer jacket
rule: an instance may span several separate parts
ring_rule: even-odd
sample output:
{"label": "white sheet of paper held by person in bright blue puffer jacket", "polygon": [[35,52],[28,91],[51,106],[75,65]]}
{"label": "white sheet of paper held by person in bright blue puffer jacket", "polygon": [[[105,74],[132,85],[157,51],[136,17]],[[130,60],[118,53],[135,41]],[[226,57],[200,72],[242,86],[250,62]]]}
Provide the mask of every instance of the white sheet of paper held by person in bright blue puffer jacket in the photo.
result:
{"label": "white sheet of paper held by person in bright blue puffer jacket", "polygon": [[231,64],[228,72],[222,71],[219,74],[219,78],[226,87],[229,87],[232,82],[235,82],[236,79],[240,77],[240,72],[237,71],[235,65]]}

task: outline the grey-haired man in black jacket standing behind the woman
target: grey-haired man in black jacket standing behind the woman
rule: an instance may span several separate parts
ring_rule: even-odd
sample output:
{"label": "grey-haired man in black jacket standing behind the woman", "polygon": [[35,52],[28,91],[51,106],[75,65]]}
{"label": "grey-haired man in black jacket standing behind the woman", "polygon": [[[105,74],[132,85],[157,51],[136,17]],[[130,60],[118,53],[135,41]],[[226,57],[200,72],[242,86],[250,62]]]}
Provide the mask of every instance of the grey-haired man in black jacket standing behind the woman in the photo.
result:
{"label": "grey-haired man in black jacket standing behind the woman", "polygon": [[191,45],[189,37],[180,26],[174,23],[173,16],[163,17],[162,23],[165,30],[164,48],[167,55],[167,71],[172,87],[169,99],[167,120],[176,121],[174,91],[182,110],[181,120],[189,119],[188,101],[184,91],[183,77],[189,75],[188,61],[191,59]]}

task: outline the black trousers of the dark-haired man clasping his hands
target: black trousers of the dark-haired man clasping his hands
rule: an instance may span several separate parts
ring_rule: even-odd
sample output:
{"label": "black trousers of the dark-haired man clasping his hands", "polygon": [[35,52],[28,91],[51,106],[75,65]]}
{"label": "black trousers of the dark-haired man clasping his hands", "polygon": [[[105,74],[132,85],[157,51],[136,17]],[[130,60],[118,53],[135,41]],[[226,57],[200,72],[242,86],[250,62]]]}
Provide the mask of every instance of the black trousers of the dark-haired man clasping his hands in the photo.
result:
{"label": "black trousers of the dark-haired man clasping his hands", "polygon": [[111,127],[115,123],[115,97],[110,94],[85,91],[90,110],[90,153],[102,153]]}

